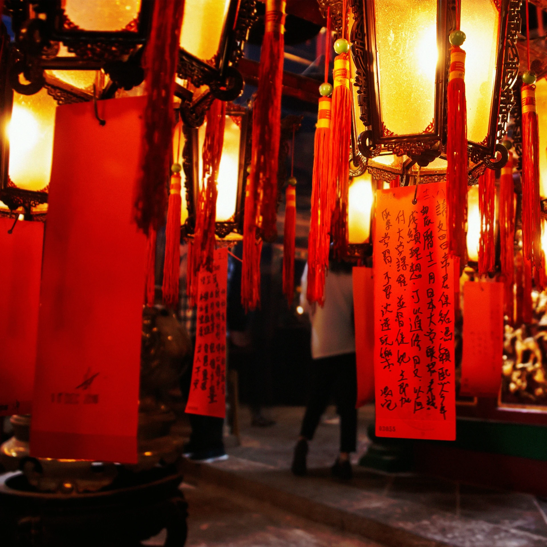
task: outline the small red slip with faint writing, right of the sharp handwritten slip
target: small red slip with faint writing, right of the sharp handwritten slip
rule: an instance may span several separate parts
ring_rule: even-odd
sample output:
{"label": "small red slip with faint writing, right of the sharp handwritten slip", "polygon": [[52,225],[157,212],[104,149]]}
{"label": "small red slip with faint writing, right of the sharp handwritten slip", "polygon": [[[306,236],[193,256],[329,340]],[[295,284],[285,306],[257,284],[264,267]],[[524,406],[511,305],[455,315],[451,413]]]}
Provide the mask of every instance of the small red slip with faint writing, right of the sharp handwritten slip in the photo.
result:
{"label": "small red slip with faint writing, right of the sharp handwritten slip", "polygon": [[462,395],[497,397],[503,363],[503,283],[463,286]]}

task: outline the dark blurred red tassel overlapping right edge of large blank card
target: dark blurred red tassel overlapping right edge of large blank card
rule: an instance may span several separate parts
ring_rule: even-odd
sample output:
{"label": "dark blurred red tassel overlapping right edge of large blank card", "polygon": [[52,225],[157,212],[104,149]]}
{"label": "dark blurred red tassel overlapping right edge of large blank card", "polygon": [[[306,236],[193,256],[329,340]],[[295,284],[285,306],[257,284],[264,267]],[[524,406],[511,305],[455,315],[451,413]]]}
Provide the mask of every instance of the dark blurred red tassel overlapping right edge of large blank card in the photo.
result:
{"label": "dark blurred red tassel overlapping right edge of large blank card", "polygon": [[174,73],[184,0],[154,2],[152,31],[146,46],[147,105],[144,113],[142,174],[135,187],[133,217],[148,234],[165,218],[165,181],[173,132]]}

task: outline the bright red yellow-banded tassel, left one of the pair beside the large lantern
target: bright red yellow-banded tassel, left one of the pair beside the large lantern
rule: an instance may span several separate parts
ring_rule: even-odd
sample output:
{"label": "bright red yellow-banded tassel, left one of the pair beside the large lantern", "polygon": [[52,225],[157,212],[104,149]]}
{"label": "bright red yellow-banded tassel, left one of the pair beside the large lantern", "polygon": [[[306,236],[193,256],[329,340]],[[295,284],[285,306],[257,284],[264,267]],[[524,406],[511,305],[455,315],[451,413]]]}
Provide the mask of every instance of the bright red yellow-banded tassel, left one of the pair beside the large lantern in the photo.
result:
{"label": "bright red yellow-banded tassel, left one of the pair beside the large lantern", "polygon": [[308,236],[307,299],[312,304],[324,302],[325,274],[329,267],[330,217],[329,203],[329,146],[330,97],[319,99],[315,146],[313,150],[313,178],[311,222]]}

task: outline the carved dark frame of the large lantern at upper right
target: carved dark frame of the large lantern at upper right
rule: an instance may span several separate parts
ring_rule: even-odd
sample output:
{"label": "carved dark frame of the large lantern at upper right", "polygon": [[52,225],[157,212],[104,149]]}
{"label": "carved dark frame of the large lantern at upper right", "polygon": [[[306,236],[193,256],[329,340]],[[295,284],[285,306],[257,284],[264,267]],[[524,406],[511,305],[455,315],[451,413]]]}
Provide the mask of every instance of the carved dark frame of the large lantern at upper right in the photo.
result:
{"label": "carved dark frame of the large lantern at upper right", "polygon": [[[382,0],[349,0],[352,43],[352,94],[353,135],[352,160],[355,174],[370,167],[379,176],[386,172],[386,179],[401,176],[401,184],[409,183],[412,169],[422,167],[422,177],[427,166],[436,158],[446,158],[446,87],[450,70],[449,34],[456,28],[455,0],[437,0],[437,50],[435,68],[434,118],[422,133],[394,135],[384,123],[379,68],[379,43],[375,21],[376,4]],[[341,0],[318,0],[322,10],[330,5],[334,26],[341,31]],[[501,141],[507,129],[507,121],[514,104],[513,85],[519,69],[516,36],[520,30],[520,0],[497,0],[499,10],[499,33],[496,44],[495,74],[492,100],[488,116],[488,130],[484,141],[468,141],[469,183],[476,182],[485,168],[502,167],[508,159],[507,150]],[[465,44],[463,45],[465,49]],[[411,52],[409,52],[409,55]],[[469,55],[468,55],[469,57]],[[467,79],[467,78],[466,78]],[[409,113],[411,115],[411,113]],[[395,172],[377,165],[378,156],[392,154],[406,156]],[[437,162],[439,163],[439,162]],[[433,182],[441,177],[432,173]],[[426,182],[423,180],[422,182]]]}

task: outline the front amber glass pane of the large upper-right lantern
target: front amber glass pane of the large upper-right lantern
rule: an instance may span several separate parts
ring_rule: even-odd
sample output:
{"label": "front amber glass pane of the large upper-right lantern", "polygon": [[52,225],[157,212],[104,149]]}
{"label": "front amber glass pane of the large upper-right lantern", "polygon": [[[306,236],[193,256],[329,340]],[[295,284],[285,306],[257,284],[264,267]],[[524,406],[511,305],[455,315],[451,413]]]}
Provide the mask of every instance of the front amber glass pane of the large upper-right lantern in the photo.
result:
{"label": "front amber glass pane of the large upper-right lantern", "polygon": [[374,8],[381,121],[395,135],[422,133],[435,114],[437,0],[377,0]]}

